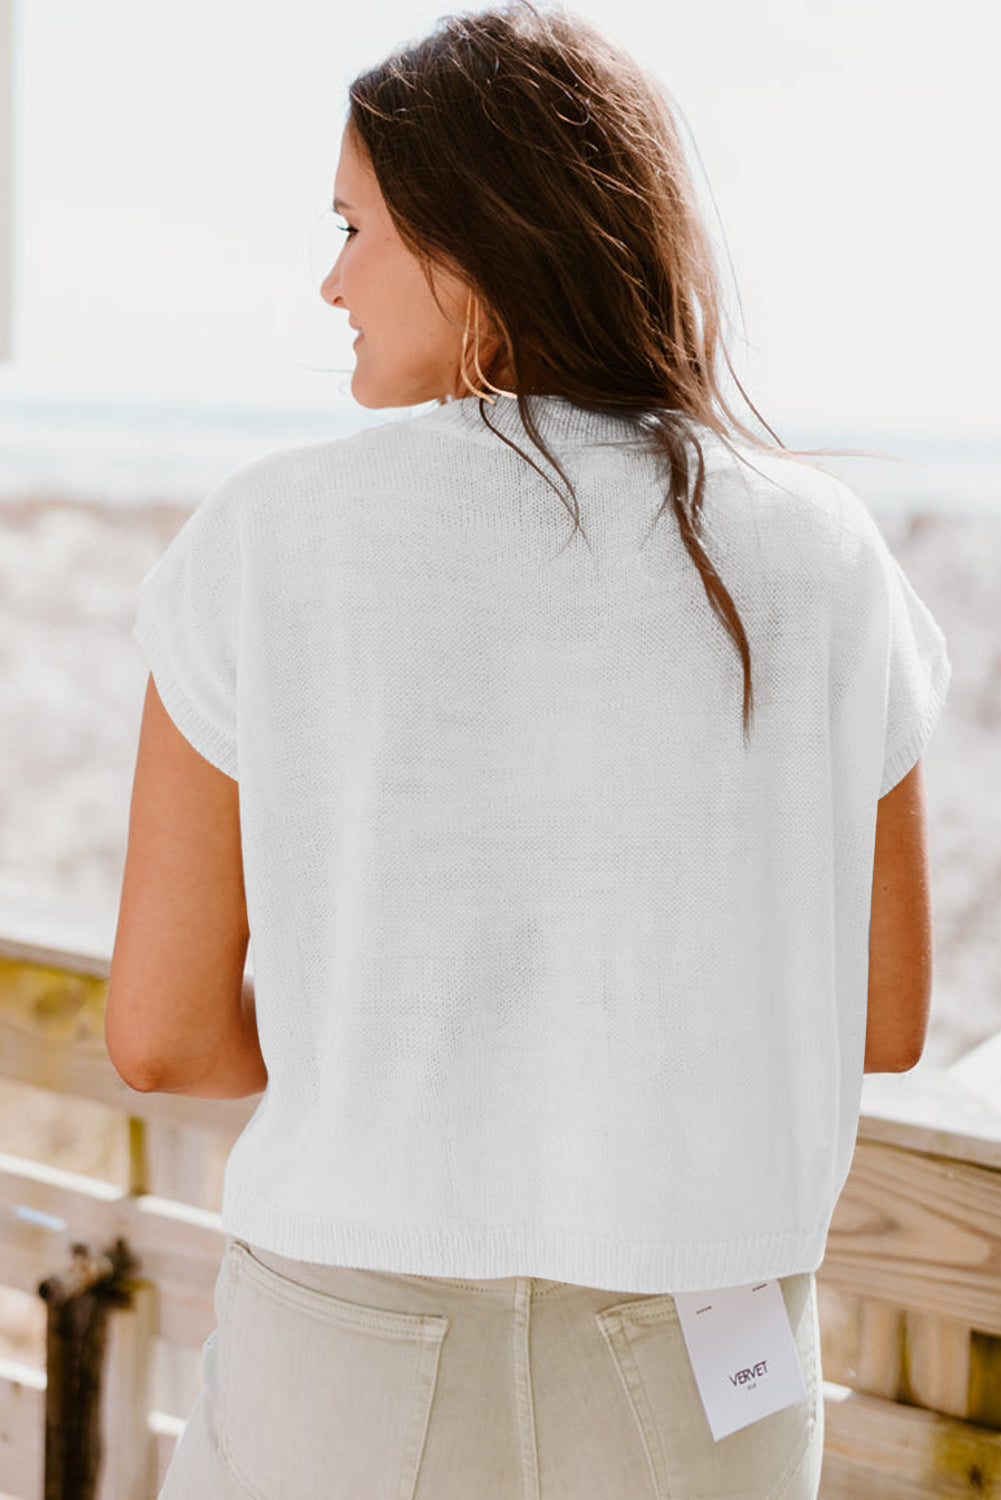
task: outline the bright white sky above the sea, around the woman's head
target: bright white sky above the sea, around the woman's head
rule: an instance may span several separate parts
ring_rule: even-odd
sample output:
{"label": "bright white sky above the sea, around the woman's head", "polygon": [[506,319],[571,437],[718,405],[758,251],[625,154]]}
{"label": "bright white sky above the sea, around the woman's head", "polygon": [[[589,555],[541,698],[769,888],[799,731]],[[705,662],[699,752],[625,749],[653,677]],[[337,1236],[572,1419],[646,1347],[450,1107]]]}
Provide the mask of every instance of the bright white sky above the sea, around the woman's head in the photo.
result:
{"label": "bright white sky above the sea, around the woman's head", "polygon": [[[15,0],[5,378],[350,404],[347,318],[318,296],[347,84],[446,9]],[[768,420],[998,441],[996,0],[573,9],[680,106]]]}

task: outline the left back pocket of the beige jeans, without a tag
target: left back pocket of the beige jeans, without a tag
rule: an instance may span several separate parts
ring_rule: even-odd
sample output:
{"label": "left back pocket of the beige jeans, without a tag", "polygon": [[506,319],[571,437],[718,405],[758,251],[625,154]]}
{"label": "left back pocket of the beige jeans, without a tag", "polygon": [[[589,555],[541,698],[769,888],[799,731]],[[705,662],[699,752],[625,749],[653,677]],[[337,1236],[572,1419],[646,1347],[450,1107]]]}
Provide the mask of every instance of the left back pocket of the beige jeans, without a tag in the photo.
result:
{"label": "left back pocket of the beige jeans, without a tag", "polygon": [[258,1500],[411,1500],[447,1317],[299,1286],[239,1240],[218,1311],[219,1452]]}

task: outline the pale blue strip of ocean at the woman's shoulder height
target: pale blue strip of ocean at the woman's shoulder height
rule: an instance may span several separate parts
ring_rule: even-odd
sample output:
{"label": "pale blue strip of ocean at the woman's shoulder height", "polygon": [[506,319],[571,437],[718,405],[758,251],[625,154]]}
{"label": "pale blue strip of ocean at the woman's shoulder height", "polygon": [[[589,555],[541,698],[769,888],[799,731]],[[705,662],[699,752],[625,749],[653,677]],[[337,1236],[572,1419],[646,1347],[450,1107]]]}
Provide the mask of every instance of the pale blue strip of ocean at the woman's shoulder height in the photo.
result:
{"label": "pale blue strip of ocean at the woman's shoulder height", "polygon": [[[0,392],[0,502],[197,504],[233,470],[278,448],[324,442],[399,420],[344,393],[329,408],[249,402],[81,399]],[[825,458],[876,512],[1001,518],[1001,441],[777,426],[788,447],[858,447],[893,454]]]}

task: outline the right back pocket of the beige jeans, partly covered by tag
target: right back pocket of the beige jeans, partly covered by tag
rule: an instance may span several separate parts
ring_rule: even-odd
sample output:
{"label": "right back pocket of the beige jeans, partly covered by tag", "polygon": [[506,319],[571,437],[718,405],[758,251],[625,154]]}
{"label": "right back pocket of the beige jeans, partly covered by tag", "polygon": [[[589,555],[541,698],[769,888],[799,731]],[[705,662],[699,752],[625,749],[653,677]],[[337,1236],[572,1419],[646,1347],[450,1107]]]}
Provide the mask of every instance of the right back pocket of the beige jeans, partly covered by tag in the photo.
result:
{"label": "right back pocket of the beige jeans, partly covered by tag", "polygon": [[674,1298],[596,1314],[642,1436],[657,1500],[815,1496],[824,1440],[816,1284],[780,1281],[806,1398],[713,1442]]}

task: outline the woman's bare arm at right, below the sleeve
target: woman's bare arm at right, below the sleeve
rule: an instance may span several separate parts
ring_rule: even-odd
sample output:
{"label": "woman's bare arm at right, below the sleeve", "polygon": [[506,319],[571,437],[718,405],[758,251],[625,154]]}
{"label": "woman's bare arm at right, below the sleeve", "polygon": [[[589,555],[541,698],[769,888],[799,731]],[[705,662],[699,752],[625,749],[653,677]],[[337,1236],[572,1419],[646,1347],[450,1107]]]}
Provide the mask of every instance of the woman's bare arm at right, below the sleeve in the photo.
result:
{"label": "woman's bare arm at right, below the sleeve", "polygon": [[930,1002],[932,896],[918,760],[876,808],[866,1072],[914,1066],[924,1048]]}

